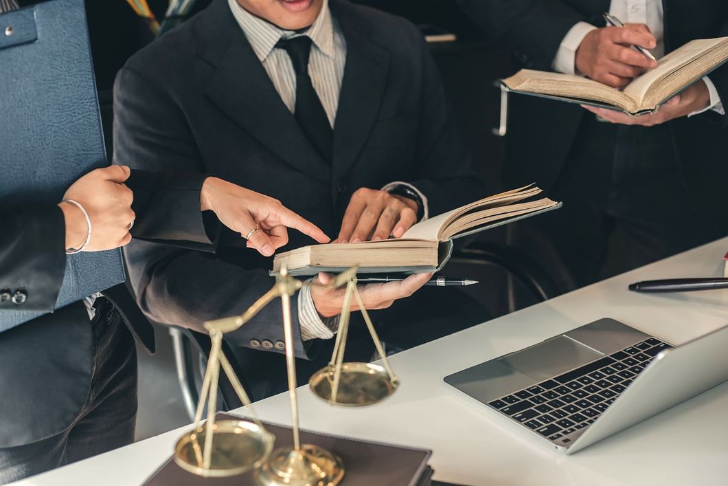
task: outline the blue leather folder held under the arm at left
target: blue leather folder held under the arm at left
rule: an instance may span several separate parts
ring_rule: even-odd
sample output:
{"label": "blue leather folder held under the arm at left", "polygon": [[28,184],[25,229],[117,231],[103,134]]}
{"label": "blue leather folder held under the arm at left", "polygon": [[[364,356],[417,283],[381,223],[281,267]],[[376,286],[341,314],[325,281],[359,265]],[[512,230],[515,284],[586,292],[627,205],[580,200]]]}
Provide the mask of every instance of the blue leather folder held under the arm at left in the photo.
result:
{"label": "blue leather folder held under the arm at left", "polygon": [[[84,1],[0,15],[0,207],[59,203],[105,165]],[[123,281],[118,249],[68,255],[55,308]],[[0,332],[39,315],[1,310]]]}

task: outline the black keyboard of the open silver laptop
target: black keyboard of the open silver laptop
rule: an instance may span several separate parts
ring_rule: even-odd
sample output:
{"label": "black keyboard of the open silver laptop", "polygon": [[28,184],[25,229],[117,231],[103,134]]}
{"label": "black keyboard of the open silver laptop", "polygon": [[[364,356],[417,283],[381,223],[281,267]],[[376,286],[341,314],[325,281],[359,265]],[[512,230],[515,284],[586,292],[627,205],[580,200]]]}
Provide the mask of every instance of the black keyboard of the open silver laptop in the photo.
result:
{"label": "black keyboard of the open silver laptop", "polygon": [[589,426],[625,391],[657,353],[672,348],[650,337],[617,353],[523,388],[488,403],[559,445],[567,435]]}

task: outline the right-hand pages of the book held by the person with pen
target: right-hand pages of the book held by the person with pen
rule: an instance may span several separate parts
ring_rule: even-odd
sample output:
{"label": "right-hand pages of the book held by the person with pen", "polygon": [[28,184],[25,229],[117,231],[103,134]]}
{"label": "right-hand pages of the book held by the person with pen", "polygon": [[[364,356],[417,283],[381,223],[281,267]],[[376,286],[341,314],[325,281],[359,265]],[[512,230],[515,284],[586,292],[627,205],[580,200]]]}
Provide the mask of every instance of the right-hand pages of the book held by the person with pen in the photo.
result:
{"label": "right-hand pages of the book held by the person with pen", "polygon": [[[687,66],[695,58],[705,55],[706,52],[724,42],[726,37],[717,39],[696,39],[670,52],[665,57],[657,61],[657,67],[647,71],[642,76],[636,78],[625,87],[624,93],[635,100],[638,105],[644,101],[644,98],[652,85],[658,82],[662,77],[667,77],[674,71]],[[651,109],[652,106],[643,106],[641,108]]]}

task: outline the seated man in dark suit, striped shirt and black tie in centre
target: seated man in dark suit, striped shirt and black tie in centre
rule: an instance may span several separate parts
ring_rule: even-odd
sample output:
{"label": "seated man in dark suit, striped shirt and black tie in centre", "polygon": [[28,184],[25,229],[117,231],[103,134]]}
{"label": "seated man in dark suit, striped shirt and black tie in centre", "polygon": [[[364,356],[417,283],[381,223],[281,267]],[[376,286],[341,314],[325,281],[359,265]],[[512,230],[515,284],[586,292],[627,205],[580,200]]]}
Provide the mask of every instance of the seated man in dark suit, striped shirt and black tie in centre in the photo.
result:
{"label": "seated man in dark suit, striped shirt and black tie in centre", "polygon": [[[244,181],[342,242],[400,236],[418,218],[483,196],[422,34],[345,0],[215,0],[129,60],[115,113],[119,163]],[[285,249],[310,243],[293,235]],[[201,329],[240,314],[273,283],[270,262],[224,231],[214,256],[143,242],[125,254],[138,302],[167,324]],[[426,277],[364,286],[365,305],[387,307]],[[434,290],[425,307],[439,308],[439,332],[466,325],[444,317],[458,296]],[[296,355],[310,358],[336,331],[341,292],[306,287],[294,303]],[[403,334],[435,337],[419,324]],[[228,339],[281,352],[280,304]],[[261,354],[250,358],[256,369]]]}

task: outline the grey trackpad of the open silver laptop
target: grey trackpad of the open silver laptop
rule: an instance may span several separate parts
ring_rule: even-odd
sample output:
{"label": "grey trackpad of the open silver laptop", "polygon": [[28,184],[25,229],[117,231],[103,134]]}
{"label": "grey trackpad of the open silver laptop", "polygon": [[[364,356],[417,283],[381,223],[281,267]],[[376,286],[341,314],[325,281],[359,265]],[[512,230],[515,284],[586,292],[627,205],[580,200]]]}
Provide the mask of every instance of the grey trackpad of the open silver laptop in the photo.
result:
{"label": "grey trackpad of the open silver laptop", "polygon": [[498,361],[507,364],[523,375],[542,381],[587,364],[601,356],[604,354],[561,335],[504,356]]}

